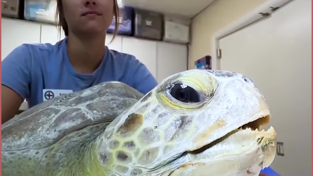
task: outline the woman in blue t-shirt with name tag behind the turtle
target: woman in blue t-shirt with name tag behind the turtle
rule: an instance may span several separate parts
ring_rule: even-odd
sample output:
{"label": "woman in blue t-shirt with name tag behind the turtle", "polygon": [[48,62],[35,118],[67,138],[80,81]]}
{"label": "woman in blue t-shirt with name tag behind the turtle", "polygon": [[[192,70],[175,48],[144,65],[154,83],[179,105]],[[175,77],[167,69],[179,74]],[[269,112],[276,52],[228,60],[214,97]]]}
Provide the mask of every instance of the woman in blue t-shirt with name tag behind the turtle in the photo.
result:
{"label": "woman in blue t-shirt with name tag behind the turtle", "polygon": [[57,13],[65,39],[55,45],[23,44],[3,60],[2,123],[17,113],[25,98],[30,107],[43,102],[47,90],[69,93],[121,81],[145,94],[157,85],[134,56],[105,46],[113,16],[118,28],[116,0],[58,0]]}

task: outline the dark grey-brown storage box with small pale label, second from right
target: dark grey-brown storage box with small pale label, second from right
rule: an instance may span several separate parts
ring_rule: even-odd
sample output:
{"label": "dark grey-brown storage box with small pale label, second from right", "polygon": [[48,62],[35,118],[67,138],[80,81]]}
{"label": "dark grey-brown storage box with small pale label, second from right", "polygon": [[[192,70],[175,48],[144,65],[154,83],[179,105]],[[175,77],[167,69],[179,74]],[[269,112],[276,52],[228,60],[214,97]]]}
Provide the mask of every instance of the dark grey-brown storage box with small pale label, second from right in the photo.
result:
{"label": "dark grey-brown storage box with small pale label, second from right", "polygon": [[134,11],[134,36],[162,40],[163,15],[142,9]]}

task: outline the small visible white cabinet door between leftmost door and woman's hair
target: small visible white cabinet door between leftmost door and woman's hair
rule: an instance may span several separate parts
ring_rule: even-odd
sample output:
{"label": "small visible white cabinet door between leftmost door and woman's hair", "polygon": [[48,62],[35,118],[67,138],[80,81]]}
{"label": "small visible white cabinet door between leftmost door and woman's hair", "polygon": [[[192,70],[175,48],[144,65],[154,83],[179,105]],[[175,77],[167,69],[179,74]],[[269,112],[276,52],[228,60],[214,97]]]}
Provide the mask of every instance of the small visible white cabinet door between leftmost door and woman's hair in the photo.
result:
{"label": "small visible white cabinet door between leftmost door and woman's hair", "polygon": [[50,43],[55,44],[59,42],[60,40],[64,39],[64,31],[61,29],[61,36],[59,34],[59,30],[55,25],[51,24],[42,24],[41,25],[41,39],[40,43]]}

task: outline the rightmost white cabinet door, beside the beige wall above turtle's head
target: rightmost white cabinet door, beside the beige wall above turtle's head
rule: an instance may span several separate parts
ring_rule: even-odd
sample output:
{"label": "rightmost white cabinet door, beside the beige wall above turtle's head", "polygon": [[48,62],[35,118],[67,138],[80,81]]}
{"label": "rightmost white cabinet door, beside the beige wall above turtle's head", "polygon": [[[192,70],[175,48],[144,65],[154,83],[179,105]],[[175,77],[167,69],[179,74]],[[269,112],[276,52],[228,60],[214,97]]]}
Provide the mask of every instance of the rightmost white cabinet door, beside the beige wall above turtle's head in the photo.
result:
{"label": "rightmost white cabinet door, beside the beige wall above turtle's head", "polygon": [[157,81],[187,70],[187,45],[166,42],[157,43]]}

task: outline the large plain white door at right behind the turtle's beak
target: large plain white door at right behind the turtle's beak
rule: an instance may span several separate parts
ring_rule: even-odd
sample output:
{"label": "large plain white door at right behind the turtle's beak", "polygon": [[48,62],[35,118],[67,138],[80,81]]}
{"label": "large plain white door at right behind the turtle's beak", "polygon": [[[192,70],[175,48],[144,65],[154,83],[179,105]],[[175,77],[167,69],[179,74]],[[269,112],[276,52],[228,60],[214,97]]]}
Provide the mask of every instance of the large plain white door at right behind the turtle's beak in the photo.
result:
{"label": "large plain white door at right behind the turtle's beak", "polygon": [[293,0],[219,41],[221,70],[249,76],[269,104],[285,154],[271,167],[281,175],[311,175],[311,7]]}

